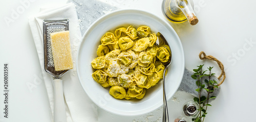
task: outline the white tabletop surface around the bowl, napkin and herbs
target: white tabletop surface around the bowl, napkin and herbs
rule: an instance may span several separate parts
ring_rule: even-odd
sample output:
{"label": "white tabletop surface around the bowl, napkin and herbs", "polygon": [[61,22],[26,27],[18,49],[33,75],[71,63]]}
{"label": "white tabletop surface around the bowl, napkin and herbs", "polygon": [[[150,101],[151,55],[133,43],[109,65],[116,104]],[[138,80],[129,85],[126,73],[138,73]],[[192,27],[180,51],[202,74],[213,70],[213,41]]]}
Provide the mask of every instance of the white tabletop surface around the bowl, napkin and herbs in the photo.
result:
{"label": "white tabletop surface around the bowl, napkin and herbs", "polygon": [[[41,6],[66,3],[66,1],[31,1],[24,11],[20,9],[23,6],[20,1],[2,1],[0,5],[0,121],[50,121],[46,89],[44,83],[37,78],[41,70],[28,17],[38,13]],[[164,18],[160,0],[100,1],[119,8],[146,10]],[[191,26],[187,22],[169,23],[174,27],[183,44],[187,69],[192,70],[200,64],[205,64],[207,67],[214,66],[214,72],[220,74],[216,63],[203,62],[199,59],[200,51],[215,56],[224,64],[227,77],[221,85],[220,95],[211,103],[213,107],[208,109],[205,121],[254,121],[256,1],[194,0],[194,4],[199,18],[197,25]],[[12,22],[6,22],[4,18],[11,18],[12,12],[18,9],[20,9],[19,16],[12,18]],[[2,108],[4,63],[8,63],[10,68],[8,119],[3,117]],[[35,87],[28,87],[31,83]],[[172,111],[172,106],[169,111]],[[147,119],[157,121],[154,115],[151,118],[136,116],[138,119],[134,119],[135,117],[113,115],[101,109],[98,113],[99,121],[147,121]],[[155,113],[159,112],[155,111]],[[174,116],[171,118],[173,119]]]}

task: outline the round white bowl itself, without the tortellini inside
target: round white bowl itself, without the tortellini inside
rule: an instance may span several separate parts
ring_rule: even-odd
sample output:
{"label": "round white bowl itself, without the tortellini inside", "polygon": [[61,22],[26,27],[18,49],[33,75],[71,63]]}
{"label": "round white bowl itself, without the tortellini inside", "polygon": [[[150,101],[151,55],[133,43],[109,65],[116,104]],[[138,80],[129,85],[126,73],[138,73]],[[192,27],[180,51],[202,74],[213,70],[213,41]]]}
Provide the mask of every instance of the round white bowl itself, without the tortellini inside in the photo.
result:
{"label": "round white bowl itself, without the tortellini inside", "polygon": [[99,107],[115,114],[133,116],[155,110],[163,105],[162,80],[147,90],[142,100],[117,100],[92,78],[91,61],[96,58],[100,38],[108,31],[122,25],[148,25],[153,33],[161,32],[172,49],[172,64],[166,76],[166,97],[169,100],[178,89],[184,73],[184,52],[180,39],[172,26],[159,17],[141,10],[119,10],[95,21],[82,37],[77,54],[77,73],[80,83]]}

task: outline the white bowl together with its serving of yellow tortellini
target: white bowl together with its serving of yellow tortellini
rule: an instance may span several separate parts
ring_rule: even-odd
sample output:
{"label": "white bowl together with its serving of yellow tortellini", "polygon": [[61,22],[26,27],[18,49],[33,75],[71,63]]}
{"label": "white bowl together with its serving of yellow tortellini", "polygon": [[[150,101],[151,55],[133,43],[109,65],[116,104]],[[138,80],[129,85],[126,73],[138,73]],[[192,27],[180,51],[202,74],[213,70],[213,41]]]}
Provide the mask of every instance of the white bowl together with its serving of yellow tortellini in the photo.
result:
{"label": "white bowl together with its serving of yellow tortellini", "polygon": [[[161,32],[172,53],[157,46]],[[164,63],[166,98],[178,89],[184,73],[184,52],[172,26],[141,10],[118,10],[95,21],[82,37],[77,54],[79,81],[102,109],[125,116],[155,110],[163,104]]]}

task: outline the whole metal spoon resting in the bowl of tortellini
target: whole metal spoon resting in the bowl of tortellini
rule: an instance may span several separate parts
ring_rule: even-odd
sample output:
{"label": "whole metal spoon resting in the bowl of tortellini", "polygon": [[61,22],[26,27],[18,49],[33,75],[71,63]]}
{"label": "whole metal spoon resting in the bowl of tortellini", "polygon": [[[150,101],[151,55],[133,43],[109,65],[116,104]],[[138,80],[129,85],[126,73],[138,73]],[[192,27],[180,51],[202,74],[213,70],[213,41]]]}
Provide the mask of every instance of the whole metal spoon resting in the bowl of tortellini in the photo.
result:
{"label": "whole metal spoon resting in the bowl of tortellini", "polygon": [[158,37],[158,40],[156,42],[156,45],[165,47],[170,53],[170,58],[168,62],[163,63],[165,67],[163,72],[163,122],[168,122],[169,116],[168,116],[168,108],[167,108],[167,101],[166,101],[166,95],[165,95],[165,71],[167,67],[170,65],[170,63],[172,62],[172,51],[170,51],[168,42],[165,40],[165,38],[160,32],[157,33],[157,37]]}

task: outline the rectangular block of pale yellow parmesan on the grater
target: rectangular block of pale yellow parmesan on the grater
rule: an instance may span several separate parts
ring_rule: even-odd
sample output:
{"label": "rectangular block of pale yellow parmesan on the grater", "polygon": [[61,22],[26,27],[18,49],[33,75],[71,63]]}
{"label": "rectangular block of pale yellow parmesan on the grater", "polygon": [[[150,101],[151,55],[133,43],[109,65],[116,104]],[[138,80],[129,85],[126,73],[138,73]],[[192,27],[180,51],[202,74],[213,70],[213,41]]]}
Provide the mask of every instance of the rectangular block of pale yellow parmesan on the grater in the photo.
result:
{"label": "rectangular block of pale yellow parmesan on the grater", "polygon": [[51,33],[51,46],[55,71],[73,69],[69,31]]}

